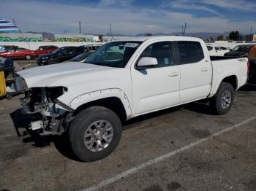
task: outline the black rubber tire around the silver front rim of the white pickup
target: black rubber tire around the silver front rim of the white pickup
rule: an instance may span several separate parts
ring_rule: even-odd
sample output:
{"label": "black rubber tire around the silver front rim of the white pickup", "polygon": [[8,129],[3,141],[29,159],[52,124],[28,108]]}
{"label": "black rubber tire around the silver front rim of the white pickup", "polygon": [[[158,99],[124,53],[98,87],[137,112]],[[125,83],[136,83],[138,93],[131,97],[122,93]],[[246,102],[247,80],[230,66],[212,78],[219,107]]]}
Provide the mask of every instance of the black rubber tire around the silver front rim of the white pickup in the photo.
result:
{"label": "black rubber tire around the silver front rim of the white pickup", "polygon": [[[108,147],[99,151],[91,151],[86,147],[85,136],[88,135],[89,128],[94,122],[105,120],[110,122],[113,130],[113,137]],[[100,160],[110,155],[118,146],[121,139],[122,127],[121,121],[116,113],[102,106],[91,106],[80,113],[72,120],[69,125],[68,136],[72,150],[75,155],[85,162]],[[94,139],[97,139],[96,136]],[[91,140],[91,138],[89,139]],[[103,140],[103,139],[102,139]],[[93,142],[92,146],[97,144]],[[95,149],[96,150],[96,149]]]}

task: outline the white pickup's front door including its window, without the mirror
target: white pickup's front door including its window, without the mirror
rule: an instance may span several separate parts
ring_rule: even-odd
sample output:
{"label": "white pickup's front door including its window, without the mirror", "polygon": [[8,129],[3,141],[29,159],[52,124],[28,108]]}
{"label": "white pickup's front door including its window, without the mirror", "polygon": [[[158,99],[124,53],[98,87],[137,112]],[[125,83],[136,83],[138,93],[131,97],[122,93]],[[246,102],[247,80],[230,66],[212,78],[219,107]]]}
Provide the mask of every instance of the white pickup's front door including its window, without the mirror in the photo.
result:
{"label": "white pickup's front door including its window, without the mirror", "polygon": [[[180,66],[174,64],[171,42],[156,42],[143,50],[140,58],[157,58],[155,68],[132,68],[132,94],[135,116],[179,103]],[[140,58],[138,60],[140,60]]]}

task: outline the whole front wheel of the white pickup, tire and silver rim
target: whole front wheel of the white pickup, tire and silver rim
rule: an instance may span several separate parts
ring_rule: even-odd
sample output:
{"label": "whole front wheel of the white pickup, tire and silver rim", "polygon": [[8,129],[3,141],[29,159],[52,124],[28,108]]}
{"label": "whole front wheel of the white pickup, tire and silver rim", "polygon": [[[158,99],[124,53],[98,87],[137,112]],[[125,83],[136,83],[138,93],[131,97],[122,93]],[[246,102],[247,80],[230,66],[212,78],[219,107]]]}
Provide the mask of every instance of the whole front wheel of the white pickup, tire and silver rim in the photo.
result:
{"label": "whole front wheel of the white pickup, tire and silver rim", "polygon": [[92,106],[80,112],[69,126],[69,142],[75,155],[92,162],[110,155],[121,139],[119,117],[102,106]]}

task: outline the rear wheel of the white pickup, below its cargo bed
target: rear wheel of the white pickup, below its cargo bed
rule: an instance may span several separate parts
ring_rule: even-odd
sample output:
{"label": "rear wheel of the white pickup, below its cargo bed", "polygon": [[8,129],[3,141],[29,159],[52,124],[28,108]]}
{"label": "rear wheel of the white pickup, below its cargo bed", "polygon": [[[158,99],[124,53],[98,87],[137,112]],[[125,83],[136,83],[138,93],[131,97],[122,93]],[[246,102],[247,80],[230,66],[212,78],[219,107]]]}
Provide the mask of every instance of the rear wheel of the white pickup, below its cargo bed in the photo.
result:
{"label": "rear wheel of the white pickup, below its cargo bed", "polygon": [[[230,96],[226,96],[227,100],[230,100],[230,101],[224,101],[224,99],[222,98],[222,95],[225,95],[227,93],[228,94],[230,93]],[[227,112],[230,111],[231,107],[233,106],[234,94],[235,94],[235,90],[233,86],[230,85],[230,83],[221,82],[219,85],[219,89],[217,90],[217,93],[211,99],[211,102],[210,102],[211,108],[214,109],[214,112],[216,114],[226,114]],[[223,102],[225,102],[224,105],[222,105]]]}

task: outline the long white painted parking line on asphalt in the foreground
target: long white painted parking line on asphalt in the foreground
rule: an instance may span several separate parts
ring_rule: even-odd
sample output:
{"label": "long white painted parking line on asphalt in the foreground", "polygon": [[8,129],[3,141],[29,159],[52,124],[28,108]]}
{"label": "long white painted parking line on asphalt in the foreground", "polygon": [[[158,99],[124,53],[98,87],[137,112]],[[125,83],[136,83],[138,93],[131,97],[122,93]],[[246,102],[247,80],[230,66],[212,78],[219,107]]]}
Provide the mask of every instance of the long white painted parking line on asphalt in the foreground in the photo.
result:
{"label": "long white painted parking line on asphalt in the foreground", "polygon": [[116,176],[113,176],[113,177],[110,178],[110,179],[106,179],[105,181],[100,182],[99,184],[96,184],[96,185],[94,185],[94,186],[92,186],[92,187],[88,187],[88,188],[86,188],[86,189],[83,189],[82,191],[99,190],[101,187],[104,187],[104,186],[106,186],[106,185],[108,185],[108,184],[111,184],[111,183],[113,183],[113,182],[116,182],[116,181],[118,181],[119,179],[122,179],[122,178],[124,178],[124,177],[126,177],[126,176],[129,176],[130,174],[135,174],[137,171],[140,171],[141,169],[146,168],[146,167],[149,166],[149,165],[153,165],[153,164],[155,164],[155,163],[159,163],[159,162],[161,162],[162,160],[165,160],[165,159],[168,158],[168,157],[172,157],[173,155],[178,154],[179,152],[183,152],[184,150],[190,149],[191,147],[195,147],[195,146],[198,145],[198,144],[201,144],[201,143],[203,143],[203,142],[205,142],[205,141],[208,141],[209,139],[212,139],[214,136],[219,136],[219,135],[221,135],[222,133],[225,133],[225,132],[227,132],[227,131],[233,130],[233,129],[238,128],[238,127],[241,127],[242,125],[245,125],[246,123],[251,122],[252,120],[256,120],[256,116],[255,116],[255,117],[251,117],[251,118],[249,118],[248,120],[245,120],[245,121],[243,121],[243,122],[239,122],[238,124],[233,125],[233,126],[230,127],[230,128],[225,128],[224,130],[220,130],[219,132],[214,133],[214,134],[212,134],[211,136],[208,136],[208,137],[206,137],[206,138],[204,138],[204,139],[200,139],[200,140],[198,140],[198,141],[195,141],[195,142],[193,142],[192,144],[189,144],[189,145],[187,145],[187,146],[185,146],[185,147],[181,147],[180,149],[177,149],[177,150],[175,150],[175,151],[173,151],[173,152],[169,152],[169,153],[167,153],[167,154],[165,154],[165,155],[162,155],[162,156],[160,156],[160,157],[156,157],[156,158],[154,158],[154,159],[152,159],[152,160],[148,160],[148,161],[146,161],[146,163],[143,163],[143,164],[141,164],[141,165],[138,165],[138,166],[135,166],[135,167],[133,167],[133,168],[130,168],[129,170],[124,171],[124,172],[121,173],[121,174],[117,174]]}

